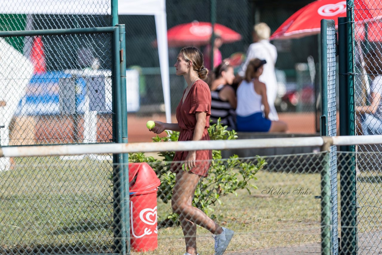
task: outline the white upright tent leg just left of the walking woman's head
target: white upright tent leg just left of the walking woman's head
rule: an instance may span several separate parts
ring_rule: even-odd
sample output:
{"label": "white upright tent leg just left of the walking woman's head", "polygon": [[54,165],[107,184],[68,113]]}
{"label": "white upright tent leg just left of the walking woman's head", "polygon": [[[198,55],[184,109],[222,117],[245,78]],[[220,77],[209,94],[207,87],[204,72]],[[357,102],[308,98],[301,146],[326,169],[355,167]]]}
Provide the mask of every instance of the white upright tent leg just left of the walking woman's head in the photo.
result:
{"label": "white upright tent leg just left of the walking woman's head", "polygon": [[171,123],[170,75],[168,67],[167,20],[165,12],[155,14],[155,26],[157,30],[160,76],[162,77],[166,122]]}

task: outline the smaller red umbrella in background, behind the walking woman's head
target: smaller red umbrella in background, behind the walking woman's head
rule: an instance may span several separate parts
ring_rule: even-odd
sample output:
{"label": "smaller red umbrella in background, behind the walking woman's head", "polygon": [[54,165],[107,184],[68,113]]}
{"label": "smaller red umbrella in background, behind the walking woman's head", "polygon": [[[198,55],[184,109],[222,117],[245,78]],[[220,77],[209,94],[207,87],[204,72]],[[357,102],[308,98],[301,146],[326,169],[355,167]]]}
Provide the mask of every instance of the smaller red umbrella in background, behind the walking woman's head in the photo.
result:
{"label": "smaller red umbrella in background, behind the walking woman's head", "polygon": [[[241,34],[222,24],[215,23],[214,32],[222,37],[223,43],[241,40]],[[193,21],[168,29],[167,40],[169,46],[206,45],[210,42],[211,34],[211,23]]]}

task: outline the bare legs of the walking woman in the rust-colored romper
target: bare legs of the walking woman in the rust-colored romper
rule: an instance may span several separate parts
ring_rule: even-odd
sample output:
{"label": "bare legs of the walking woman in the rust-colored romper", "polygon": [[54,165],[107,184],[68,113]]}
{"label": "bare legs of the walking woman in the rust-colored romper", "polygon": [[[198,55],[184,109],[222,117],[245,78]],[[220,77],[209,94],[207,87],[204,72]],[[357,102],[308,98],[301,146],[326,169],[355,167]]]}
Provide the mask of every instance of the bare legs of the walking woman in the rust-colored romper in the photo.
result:
{"label": "bare legs of the walking woman in the rust-colored romper", "polygon": [[185,235],[186,252],[196,254],[196,224],[209,230],[212,234],[221,234],[223,229],[210,219],[203,211],[192,206],[200,176],[191,172],[180,171],[175,177],[172,194],[172,210],[180,216],[180,223]]}

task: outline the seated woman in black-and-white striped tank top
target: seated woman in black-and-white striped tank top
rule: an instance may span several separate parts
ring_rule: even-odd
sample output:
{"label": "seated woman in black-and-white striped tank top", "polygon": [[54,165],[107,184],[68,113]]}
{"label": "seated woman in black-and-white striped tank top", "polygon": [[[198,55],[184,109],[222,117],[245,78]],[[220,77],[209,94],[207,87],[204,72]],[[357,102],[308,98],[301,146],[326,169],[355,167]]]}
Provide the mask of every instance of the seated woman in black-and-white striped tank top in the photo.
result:
{"label": "seated woman in black-and-white striped tank top", "polygon": [[211,89],[211,124],[217,123],[219,117],[221,123],[228,126],[227,130],[236,129],[236,93],[230,86],[235,79],[233,67],[225,61],[214,70],[214,81]]}

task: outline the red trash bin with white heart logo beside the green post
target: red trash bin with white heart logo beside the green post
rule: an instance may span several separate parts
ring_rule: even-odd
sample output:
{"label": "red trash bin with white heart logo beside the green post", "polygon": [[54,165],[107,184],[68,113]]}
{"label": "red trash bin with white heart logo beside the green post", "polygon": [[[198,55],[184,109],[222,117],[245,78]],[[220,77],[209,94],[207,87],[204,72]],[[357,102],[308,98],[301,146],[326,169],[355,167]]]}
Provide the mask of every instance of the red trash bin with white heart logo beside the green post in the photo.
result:
{"label": "red trash bin with white heart logo beside the green post", "polygon": [[129,163],[130,244],[146,252],[158,247],[157,190],[160,180],[147,163]]}

